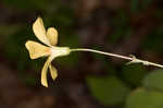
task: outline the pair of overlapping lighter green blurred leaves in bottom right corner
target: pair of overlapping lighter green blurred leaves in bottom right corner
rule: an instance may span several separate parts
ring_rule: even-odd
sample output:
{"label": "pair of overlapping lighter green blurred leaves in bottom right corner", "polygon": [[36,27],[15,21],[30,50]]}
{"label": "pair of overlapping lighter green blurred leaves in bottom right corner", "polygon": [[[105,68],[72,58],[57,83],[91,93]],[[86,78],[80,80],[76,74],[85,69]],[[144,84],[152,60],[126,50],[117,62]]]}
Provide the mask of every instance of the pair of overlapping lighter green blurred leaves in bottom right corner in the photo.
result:
{"label": "pair of overlapping lighter green blurred leaves in bottom right corner", "polygon": [[126,100],[127,108],[163,107],[163,70],[155,70],[142,80],[142,87],[130,93]]}

